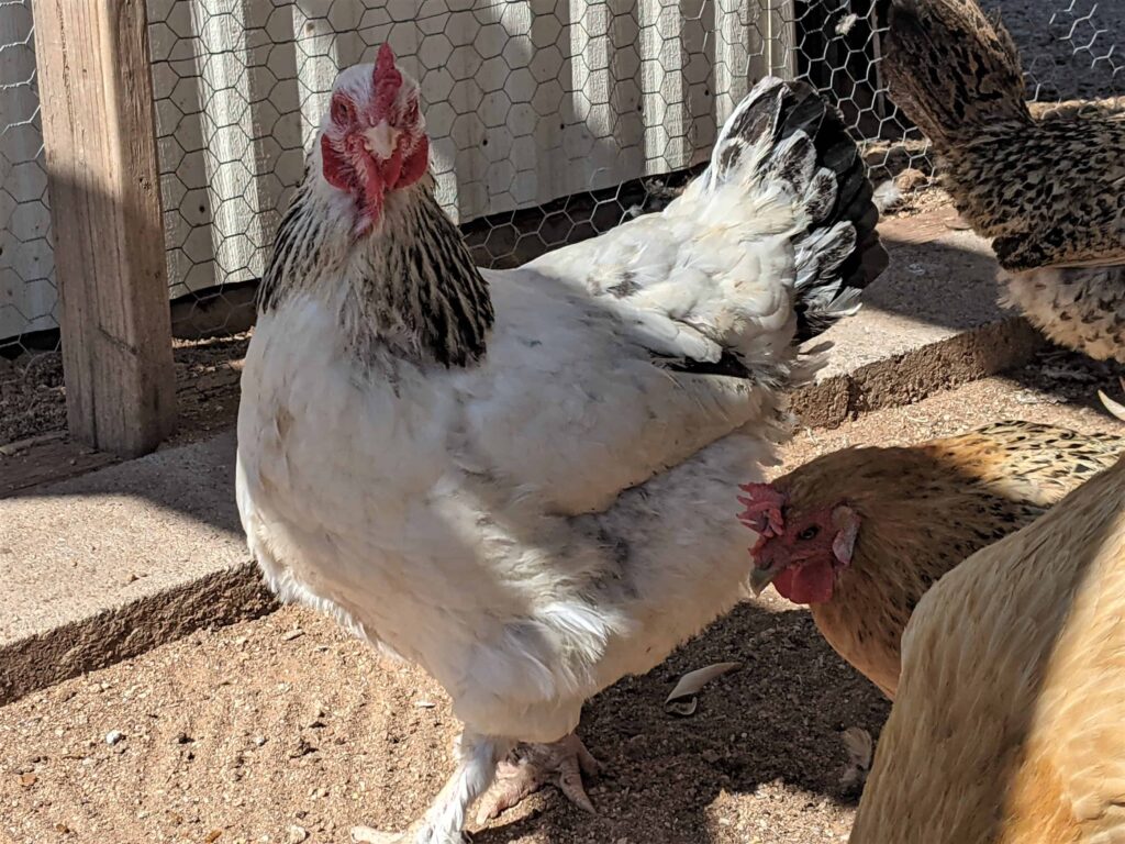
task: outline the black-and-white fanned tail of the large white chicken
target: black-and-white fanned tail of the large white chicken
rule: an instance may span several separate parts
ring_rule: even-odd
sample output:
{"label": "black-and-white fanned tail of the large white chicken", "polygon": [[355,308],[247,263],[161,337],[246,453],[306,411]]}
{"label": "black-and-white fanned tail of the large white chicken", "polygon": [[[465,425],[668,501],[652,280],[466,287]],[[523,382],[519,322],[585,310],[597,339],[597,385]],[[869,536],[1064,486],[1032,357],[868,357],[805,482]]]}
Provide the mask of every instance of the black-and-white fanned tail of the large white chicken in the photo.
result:
{"label": "black-and-white fanned tail of the large white chicken", "polygon": [[860,293],[886,268],[873,188],[839,114],[803,82],[763,79],[727,120],[706,179],[744,168],[765,189],[789,186],[808,218],[796,245],[796,340],[813,338],[860,307]]}

